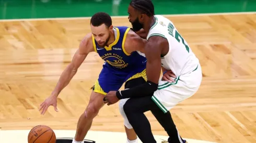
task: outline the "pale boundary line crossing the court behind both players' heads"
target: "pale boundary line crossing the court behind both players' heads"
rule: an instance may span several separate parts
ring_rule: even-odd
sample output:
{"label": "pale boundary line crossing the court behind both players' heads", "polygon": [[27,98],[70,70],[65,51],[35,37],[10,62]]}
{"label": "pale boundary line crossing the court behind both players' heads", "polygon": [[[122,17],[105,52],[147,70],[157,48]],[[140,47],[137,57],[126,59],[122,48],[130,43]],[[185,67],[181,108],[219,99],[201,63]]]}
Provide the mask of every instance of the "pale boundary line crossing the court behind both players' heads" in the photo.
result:
{"label": "pale boundary line crossing the court behind both players' heads", "polygon": [[[162,15],[165,17],[184,17],[184,16],[217,16],[217,15],[250,15],[256,14],[256,11],[252,12],[217,12],[217,13],[202,13],[202,14],[173,14],[173,15]],[[115,18],[127,18],[128,16],[111,16]],[[41,21],[41,20],[79,20],[79,19],[90,19],[91,17],[63,17],[63,18],[27,18],[27,19],[0,19],[0,22],[8,21]]]}

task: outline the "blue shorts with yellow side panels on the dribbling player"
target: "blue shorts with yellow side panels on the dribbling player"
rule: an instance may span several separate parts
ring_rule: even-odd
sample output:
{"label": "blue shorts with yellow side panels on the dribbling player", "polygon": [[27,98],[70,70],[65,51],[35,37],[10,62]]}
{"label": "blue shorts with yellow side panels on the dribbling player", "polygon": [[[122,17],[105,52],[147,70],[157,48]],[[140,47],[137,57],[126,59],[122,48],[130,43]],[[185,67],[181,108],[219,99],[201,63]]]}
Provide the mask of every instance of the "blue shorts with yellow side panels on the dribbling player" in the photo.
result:
{"label": "blue shorts with yellow side panels on the dribbling player", "polygon": [[146,67],[121,71],[110,67],[108,63],[103,64],[103,69],[94,85],[94,92],[106,95],[110,91],[119,90],[123,83],[138,77],[143,77],[147,81]]}

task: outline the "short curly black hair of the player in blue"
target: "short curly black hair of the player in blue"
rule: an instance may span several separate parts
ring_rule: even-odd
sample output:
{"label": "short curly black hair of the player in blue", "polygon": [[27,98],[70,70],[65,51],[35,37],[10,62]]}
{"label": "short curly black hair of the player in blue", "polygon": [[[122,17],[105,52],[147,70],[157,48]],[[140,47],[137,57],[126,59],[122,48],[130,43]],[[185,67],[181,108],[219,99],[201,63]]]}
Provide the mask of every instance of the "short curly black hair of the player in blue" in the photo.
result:
{"label": "short curly black hair of the player in blue", "polygon": [[97,12],[91,17],[90,24],[92,24],[94,27],[105,24],[109,28],[112,25],[112,19],[109,14],[105,12]]}

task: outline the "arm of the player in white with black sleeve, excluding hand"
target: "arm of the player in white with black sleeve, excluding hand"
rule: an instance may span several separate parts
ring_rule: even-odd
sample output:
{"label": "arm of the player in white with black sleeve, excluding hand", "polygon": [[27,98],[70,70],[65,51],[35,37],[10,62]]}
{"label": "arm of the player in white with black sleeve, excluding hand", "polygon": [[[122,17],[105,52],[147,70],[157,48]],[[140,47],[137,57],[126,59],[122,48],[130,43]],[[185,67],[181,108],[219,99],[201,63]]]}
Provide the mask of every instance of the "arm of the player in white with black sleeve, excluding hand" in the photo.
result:
{"label": "arm of the player in white with black sleeve, excluding hand", "polygon": [[117,92],[119,99],[152,96],[157,90],[158,81],[161,72],[161,58],[162,49],[168,46],[166,39],[160,36],[152,36],[149,38],[145,46],[145,55],[147,58],[146,74],[147,83],[136,86],[134,88],[122,90]]}

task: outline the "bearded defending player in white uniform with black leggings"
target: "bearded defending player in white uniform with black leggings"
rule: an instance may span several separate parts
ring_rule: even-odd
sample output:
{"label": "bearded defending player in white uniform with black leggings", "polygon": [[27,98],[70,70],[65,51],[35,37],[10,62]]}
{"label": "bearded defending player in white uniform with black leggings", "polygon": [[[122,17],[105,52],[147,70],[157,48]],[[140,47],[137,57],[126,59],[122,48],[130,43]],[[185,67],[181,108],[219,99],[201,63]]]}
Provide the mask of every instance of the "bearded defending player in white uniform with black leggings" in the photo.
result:
{"label": "bearded defending player in white uniform with black leggings", "polygon": [[[128,13],[133,30],[143,29],[147,35],[147,83],[118,92],[111,91],[104,98],[104,102],[111,105],[120,99],[128,99],[123,110],[143,142],[156,142],[144,115],[149,110],[154,111],[156,119],[165,128],[169,135],[168,142],[187,142],[180,137],[169,110],[199,89],[202,81],[199,59],[174,24],[169,19],[154,14],[154,5],[150,0],[132,0]],[[161,66],[177,76],[175,82],[159,81]]]}

